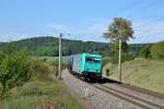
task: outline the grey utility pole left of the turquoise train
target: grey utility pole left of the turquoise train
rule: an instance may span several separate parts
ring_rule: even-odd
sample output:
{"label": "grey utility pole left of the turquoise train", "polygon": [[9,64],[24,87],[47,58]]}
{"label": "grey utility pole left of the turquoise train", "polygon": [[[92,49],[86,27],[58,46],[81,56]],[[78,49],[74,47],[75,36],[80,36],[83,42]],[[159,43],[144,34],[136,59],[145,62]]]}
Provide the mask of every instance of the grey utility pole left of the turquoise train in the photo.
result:
{"label": "grey utility pole left of the turquoise train", "polygon": [[61,80],[61,38],[62,34],[59,35],[59,64],[58,64],[58,78]]}

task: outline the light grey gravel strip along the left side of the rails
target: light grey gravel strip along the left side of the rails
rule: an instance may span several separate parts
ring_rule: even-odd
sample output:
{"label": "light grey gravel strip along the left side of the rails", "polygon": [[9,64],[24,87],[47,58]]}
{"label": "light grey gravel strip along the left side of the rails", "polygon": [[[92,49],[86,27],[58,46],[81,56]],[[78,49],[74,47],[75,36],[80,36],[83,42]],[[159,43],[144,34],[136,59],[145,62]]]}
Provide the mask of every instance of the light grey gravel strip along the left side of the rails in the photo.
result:
{"label": "light grey gravel strip along the left side of the rails", "polygon": [[[71,90],[85,100],[93,109],[141,109],[124,99],[99,90],[74,77],[68,70],[62,71],[62,81]],[[87,93],[86,93],[87,92]]]}

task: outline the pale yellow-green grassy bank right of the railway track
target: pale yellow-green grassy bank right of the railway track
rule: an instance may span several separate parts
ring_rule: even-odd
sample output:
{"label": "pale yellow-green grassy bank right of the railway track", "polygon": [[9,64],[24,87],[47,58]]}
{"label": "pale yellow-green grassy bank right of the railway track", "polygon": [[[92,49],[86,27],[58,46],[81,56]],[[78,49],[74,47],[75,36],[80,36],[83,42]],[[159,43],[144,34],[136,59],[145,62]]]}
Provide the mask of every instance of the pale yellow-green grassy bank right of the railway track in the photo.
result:
{"label": "pale yellow-green grassy bank right of the railway track", "polygon": [[[104,66],[109,70],[109,77],[118,80],[116,64],[108,63]],[[164,93],[164,62],[138,58],[122,63],[122,81],[134,86]]]}

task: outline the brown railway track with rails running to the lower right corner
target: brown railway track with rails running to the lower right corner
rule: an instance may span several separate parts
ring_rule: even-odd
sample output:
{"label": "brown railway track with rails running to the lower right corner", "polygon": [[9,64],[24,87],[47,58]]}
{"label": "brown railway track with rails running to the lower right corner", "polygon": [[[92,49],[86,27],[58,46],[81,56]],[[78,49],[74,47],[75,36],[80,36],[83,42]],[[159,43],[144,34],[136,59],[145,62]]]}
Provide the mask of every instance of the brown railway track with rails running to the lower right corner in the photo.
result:
{"label": "brown railway track with rails running to the lower right corner", "polygon": [[[156,99],[162,99],[163,100],[162,102],[164,102],[164,96],[162,94],[151,92],[148,89],[143,89],[143,88],[139,88],[139,87],[134,87],[134,86],[131,86],[128,84],[122,84],[117,81],[108,80],[108,78],[105,78],[104,82],[96,81],[96,82],[85,82],[85,83],[87,83],[89,85],[92,85],[93,87],[95,87],[102,92],[105,92],[105,93],[113,95],[117,98],[120,98],[127,102],[138,106],[142,109],[164,109],[164,105],[156,104],[156,101],[150,100],[149,97],[147,99],[145,97],[138,96],[134,93],[132,95],[129,92],[125,92],[124,89],[121,90],[121,88],[127,88],[127,89],[130,89],[131,92],[142,93],[142,95],[150,95],[150,96],[155,97]],[[120,89],[107,86],[106,84],[114,84],[117,87],[119,87]]]}

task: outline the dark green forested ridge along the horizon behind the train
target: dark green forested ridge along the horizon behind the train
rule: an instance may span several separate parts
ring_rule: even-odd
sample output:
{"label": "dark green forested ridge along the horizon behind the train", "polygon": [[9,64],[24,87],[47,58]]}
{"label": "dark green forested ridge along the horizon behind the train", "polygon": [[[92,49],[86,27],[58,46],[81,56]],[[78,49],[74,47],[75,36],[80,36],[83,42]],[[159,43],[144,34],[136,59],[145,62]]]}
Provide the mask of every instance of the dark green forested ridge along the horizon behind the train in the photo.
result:
{"label": "dark green forested ridge along the horizon behind the train", "polygon": [[[15,44],[15,49],[20,50],[26,48],[36,56],[49,56],[58,57],[58,38],[52,36],[33,37],[22,39],[17,41],[11,41]],[[1,48],[5,51],[8,45],[11,43],[0,43]],[[133,56],[139,56],[140,50],[151,44],[127,44],[122,45],[126,48],[126,52],[130,52]],[[95,43],[95,41],[82,41],[62,39],[62,55],[70,56],[74,53],[89,52],[101,53],[104,57],[114,56],[117,51],[117,45],[109,43]]]}

